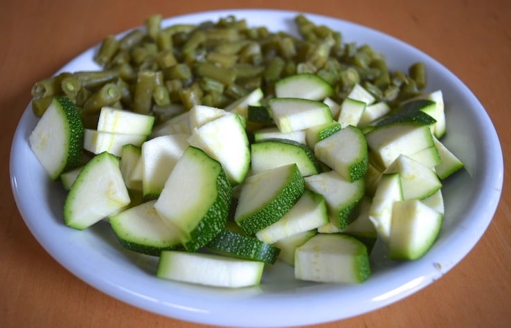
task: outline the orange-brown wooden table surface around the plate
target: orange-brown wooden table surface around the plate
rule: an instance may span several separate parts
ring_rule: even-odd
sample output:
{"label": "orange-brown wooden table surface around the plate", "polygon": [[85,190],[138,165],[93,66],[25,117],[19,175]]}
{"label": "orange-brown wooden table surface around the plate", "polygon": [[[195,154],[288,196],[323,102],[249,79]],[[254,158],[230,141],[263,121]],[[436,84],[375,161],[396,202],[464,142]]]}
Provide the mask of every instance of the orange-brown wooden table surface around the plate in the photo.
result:
{"label": "orange-brown wooden table surface around the plate", "polygon": [[[71,275],[30,235],[10,192],[8,157],[33,83],[109,33],[163,17],[223,8],[314,12],[370,26],[447,66],[490,114],[511,159],[511,6],[487,1],[28,1],[0,5],[0,326],[202,327],[114,300]],[[511,327],[510,174],[490,227],[458,266],[422,291],[321,327]]]}

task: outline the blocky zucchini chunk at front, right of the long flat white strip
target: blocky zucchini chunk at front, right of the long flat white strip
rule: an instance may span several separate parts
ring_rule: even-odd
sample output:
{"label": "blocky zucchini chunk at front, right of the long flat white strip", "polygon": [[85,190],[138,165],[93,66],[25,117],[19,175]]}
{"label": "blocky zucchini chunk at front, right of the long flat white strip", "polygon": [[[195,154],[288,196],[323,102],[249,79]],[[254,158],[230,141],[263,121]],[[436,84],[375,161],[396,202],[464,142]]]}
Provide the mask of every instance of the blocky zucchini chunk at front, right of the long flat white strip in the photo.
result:
{"label": "blocky zucchini chunk at front, right of the long flat white strip", "polygon": [[364,282],[370,277],[366,246],[349,235],[319,233],[296,248],[294,276],[314,282]]}

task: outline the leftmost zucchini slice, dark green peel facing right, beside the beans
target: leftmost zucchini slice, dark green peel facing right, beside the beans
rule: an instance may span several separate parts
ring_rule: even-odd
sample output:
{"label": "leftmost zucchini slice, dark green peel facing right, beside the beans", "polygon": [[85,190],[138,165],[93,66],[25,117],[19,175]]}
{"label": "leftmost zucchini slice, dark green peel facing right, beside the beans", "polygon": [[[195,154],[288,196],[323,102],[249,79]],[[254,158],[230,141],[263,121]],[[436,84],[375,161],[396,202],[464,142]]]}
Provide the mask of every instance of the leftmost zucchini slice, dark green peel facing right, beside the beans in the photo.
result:
{"label": "leftmost zucchini slice, dark green peel facing right, beside the beans", "polygon": [[28,137],[30,149],[52,180],[82,165],[84,127],[68,98],[53,98]]}

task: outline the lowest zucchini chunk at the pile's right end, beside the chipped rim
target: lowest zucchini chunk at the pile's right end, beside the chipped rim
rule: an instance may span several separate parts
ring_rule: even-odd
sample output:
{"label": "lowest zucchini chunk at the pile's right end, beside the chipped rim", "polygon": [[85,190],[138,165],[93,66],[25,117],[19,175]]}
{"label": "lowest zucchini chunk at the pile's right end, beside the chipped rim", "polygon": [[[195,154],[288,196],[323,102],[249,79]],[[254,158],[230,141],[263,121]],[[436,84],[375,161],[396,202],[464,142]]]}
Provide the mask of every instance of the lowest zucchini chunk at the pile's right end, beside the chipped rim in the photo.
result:
{"label": "lowest zucchini chunk at the pile's right end, beside the chipped rim", "polygon": [[417,199],[395,202],[392,213],[388,258],[412,260],[422,257],[440,233],[442,213]]}

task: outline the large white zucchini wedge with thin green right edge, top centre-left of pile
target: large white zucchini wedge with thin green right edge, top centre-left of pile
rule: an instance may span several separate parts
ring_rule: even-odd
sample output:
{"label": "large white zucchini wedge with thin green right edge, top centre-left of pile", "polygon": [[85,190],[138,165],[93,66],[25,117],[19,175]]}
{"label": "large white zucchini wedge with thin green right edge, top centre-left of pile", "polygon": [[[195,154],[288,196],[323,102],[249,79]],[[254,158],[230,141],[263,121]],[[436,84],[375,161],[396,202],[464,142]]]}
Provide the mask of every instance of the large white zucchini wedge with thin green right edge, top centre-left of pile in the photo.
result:
{"label": "large white zucchini wedge with thin green right edge, top centre-left of pile", "polygon": [[241,183],[250,168],[249,138],[237,114],[211,120],[192,131],[190,145],[219,161],[233,185]]}

